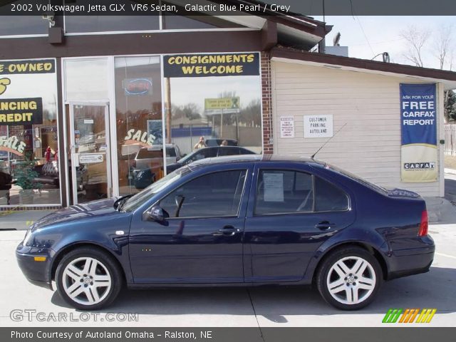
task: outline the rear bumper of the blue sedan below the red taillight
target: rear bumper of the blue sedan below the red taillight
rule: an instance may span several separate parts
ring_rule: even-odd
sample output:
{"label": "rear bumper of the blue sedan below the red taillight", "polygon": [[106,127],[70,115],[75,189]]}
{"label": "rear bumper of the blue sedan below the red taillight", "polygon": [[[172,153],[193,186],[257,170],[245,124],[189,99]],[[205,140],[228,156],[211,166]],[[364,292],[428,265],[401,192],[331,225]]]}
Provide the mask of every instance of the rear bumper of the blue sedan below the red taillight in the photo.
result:
{"label": "rear bumper of the blue sedan below the red taillight", "polygon": [[434,260],[435,244],[430,236],[420,238],[420,247],[393,251],[388,280],[429,271]]}

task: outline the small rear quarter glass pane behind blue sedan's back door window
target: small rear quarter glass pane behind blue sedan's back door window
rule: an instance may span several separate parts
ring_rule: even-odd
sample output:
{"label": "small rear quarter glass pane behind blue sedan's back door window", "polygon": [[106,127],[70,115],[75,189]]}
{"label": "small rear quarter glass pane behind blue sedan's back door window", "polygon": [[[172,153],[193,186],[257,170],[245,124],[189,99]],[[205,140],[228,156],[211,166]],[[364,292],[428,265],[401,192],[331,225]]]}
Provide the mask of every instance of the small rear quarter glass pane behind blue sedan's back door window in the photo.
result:
{"label": "small rear quarter glass pane behind blue sedan's back door window", "polygon": [[315,177],[315,210],[339,212],[348,209],[348,196],[330,182]]}

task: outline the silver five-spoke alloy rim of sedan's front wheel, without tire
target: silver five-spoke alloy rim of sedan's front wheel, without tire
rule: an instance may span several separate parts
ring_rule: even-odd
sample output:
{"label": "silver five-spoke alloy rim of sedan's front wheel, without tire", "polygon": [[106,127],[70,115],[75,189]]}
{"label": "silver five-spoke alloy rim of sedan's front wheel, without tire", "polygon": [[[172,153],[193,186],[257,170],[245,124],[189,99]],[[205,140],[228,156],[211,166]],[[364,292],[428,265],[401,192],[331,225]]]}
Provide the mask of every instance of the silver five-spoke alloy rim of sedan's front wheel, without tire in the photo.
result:
{"label": "silver five-spoke alloy rim of sedan's front wheel, without tire", "polygon": [[108,296],[112,278],[106,266],[91,257],[71,261],[63,270],[63,290],[78,304],[94,305]]}

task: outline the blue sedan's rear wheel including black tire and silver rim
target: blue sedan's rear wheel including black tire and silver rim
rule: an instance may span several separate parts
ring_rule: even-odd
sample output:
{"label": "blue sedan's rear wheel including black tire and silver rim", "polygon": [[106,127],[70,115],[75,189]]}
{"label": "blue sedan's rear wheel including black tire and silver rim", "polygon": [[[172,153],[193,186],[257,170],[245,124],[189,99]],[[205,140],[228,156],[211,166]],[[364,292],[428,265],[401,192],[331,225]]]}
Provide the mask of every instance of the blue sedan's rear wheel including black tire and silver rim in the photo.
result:
{"label": "blue sedan's rear wheel including black tire and silver rim", "polygon": [[317,288],[323,299],[342,310],[358,310],[371,304],[382,281],[378,260],[360,247],[344,247],[332,252],[316,274]]}

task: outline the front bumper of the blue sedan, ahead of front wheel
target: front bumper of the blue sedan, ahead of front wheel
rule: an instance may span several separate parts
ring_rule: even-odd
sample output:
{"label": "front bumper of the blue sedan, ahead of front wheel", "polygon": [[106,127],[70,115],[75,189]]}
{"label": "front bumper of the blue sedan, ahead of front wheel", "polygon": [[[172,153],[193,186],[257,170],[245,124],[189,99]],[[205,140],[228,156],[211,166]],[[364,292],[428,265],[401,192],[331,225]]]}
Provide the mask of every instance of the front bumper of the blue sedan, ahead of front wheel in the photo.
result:
{"label": "front bumper of the blue sedan, ahead of front wheel", "polygon": [[[26,279],[32,284],[52,289],[51,260],[52,249],[38,249],[19,244],[16,248],[16,260]],[[35,261],[35,257],[46,257],[46,261]]]}

